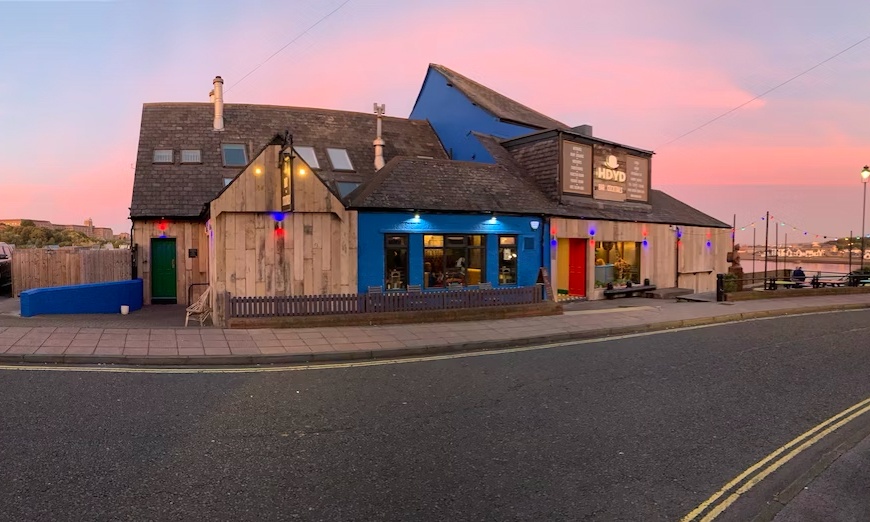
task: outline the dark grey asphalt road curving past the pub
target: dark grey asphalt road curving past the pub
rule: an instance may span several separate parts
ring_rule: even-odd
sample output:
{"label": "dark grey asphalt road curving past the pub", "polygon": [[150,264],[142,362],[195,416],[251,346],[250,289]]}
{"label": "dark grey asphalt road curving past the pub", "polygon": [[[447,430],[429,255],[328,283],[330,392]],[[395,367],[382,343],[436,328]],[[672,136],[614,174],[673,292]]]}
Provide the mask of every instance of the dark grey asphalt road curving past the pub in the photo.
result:
{"label": "dark grey asphalt road curving past the pub", "polygon": [[870,396],[868,325],[253,374],[0,370],[0,520],[678,520]]}

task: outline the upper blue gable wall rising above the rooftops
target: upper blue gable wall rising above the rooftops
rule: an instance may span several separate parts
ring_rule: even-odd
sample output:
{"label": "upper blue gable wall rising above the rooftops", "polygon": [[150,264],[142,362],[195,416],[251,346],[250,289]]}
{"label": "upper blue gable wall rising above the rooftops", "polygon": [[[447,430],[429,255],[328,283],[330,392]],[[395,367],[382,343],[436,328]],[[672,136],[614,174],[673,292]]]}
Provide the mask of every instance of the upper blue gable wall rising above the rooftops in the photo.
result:
{"label": "upper blue gable wall rising above the rooftops", "polygon": [[472,131],[499,138],[515,138],[537,129],[505,123],[473,104],[454,87],[447,78],[433,69],[426,73],[417,103],[411,111],[412,120],[429,120],[432,128],[453,159],[495,163]]}

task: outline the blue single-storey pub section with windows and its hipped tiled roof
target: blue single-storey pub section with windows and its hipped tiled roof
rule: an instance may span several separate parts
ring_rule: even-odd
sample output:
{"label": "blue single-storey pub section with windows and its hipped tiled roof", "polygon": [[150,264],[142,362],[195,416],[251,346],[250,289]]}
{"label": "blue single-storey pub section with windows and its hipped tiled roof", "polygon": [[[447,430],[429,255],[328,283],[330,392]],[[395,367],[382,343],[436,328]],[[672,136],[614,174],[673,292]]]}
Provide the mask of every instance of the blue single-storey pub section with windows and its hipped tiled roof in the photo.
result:
{"label": "blue single-storey pub section with windows and its hipped tiled roof", "polygon": [[348,196],[359,216],[359,292],[533,286],[552,207],[503,165],[395,158]]}

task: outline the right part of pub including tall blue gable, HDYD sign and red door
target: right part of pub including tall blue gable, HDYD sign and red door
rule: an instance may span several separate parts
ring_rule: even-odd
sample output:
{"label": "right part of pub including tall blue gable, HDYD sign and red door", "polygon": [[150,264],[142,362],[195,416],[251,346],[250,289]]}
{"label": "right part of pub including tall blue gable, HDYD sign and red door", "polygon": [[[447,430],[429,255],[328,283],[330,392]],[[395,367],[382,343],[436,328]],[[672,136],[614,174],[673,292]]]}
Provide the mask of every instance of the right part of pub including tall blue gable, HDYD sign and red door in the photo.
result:
{"label": "right part of pub including tall blue gable, HDYD sign and red door", "polygon": [[645,280],[706,292],[727,269],[731,226],[653,189],[651,151],[595,137],[589,125],[566,125],[438,64],[411,119],[428,121],[452,159],[502,166],[546,199],[539,266],[558,296],[602,299],[608,285]]}

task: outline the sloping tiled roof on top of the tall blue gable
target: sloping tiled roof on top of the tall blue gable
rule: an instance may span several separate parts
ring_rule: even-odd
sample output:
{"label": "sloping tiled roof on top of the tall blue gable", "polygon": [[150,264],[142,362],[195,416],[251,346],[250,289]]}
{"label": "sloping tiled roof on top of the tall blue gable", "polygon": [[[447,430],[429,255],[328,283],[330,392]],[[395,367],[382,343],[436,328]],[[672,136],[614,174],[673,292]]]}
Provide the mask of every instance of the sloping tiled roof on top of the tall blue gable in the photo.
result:
{"label": "sloping tiled roof on top of the tall blue gable", "polygon": [[429,67],[444,75],[444,77],[447,78],[456,89],[465,94],[468,99],[476,103],[479,107],[486,109],[497,118],[521,123],[530,127],[537,127],[539,129],[569,128],[568,125],[554,120],[549,116],[545,116],[534,109],[530,109],[529,107],[526,107],[503,94],[499,94],[489,87],[481,85],[471,78],[467,78],[456,71],[444,67],[443,65],[432,63],[429,64]]}

